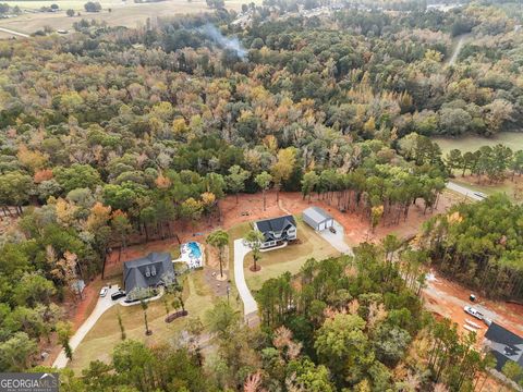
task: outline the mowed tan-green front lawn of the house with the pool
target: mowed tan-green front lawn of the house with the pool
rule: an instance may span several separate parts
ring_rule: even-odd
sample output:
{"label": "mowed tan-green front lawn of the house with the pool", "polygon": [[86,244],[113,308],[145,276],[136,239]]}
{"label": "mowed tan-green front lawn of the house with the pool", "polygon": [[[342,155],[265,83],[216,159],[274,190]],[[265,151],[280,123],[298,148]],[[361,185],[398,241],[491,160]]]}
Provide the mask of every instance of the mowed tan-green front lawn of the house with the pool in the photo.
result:
{"label": "mowed tan-green front lawn of the house with the pool", "polygon": [[[188,317],[198,316],[205,323],[205,314],[219,301],[212,295],[210,287],[204,281],[204,271],[193,271],[184,277],[183,296]],[[168,296],[169,306],[172,295]],[[148,303],[147,317],[150,336],[145,335],[144,313],[139,304],[133,306],[115,305],[106,311],[95,327],[87,333],[80,346],[74,351],[70,367],[77,373],[85,369],[92,360],[109,363],[111,353],[117,344],[121,342],[120,327],[118,324],[118,311],[123,320],[127,339],[137,340],[151,346],[157,344],[169,344],[178,339],[179,332],[184,328],[187,317],[174,320],[171,323],[165,322],[166,307],[163,298]],[[231,305],[239,307],[234,298]]]}

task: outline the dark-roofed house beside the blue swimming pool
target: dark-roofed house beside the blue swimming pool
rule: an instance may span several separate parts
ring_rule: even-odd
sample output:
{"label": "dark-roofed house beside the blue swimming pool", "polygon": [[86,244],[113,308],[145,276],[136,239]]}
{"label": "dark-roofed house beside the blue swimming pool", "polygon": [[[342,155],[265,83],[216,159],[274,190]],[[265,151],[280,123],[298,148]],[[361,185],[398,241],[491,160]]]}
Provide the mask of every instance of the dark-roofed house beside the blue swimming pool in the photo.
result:
{"label": "dark-roofed house beside the blue swimming pool", "polygon": [[157,287],[174,279],[174,267],[169,253],[151,253],[147,257],[123,264],[123,282],[127,294],[135,289]]}

